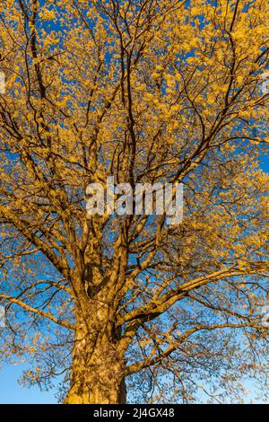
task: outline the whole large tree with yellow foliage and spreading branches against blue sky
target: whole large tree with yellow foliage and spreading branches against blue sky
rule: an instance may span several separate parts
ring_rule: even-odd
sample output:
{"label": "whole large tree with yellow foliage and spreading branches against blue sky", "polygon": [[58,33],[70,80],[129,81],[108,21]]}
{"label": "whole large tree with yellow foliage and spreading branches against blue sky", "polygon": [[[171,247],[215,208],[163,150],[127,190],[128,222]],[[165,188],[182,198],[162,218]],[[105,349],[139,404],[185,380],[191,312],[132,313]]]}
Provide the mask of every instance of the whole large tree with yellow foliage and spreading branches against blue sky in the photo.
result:
{"label": "whole large tree with yellow foliage and spreading branches against blue sky", "polygon": [[[24,382],[66,374],[65,403],[122,403],[138,374],[140,400],[167,383],[166,400],[225,400],[239,373],[262,374],[265,11],[2,2],[1,348],[36,362]],[[107,176],[183,183],[183,222],[88,215]]]}

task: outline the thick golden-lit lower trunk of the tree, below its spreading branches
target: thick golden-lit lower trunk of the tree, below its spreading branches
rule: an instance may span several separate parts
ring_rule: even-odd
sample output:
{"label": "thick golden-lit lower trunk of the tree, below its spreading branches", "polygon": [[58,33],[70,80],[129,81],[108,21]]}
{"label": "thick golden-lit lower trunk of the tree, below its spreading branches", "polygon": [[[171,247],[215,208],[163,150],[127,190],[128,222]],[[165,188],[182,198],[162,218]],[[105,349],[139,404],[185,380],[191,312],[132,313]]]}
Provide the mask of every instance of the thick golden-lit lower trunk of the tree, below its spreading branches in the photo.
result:
{"label": "thick golden-lit lower trunk of the tree, below its spreading branches", "polygon": [[91,310],[87,321],[89,326],[83,322],[76,332],[65,404],[125,403],[125,360],[111,330],[107,306]]}

